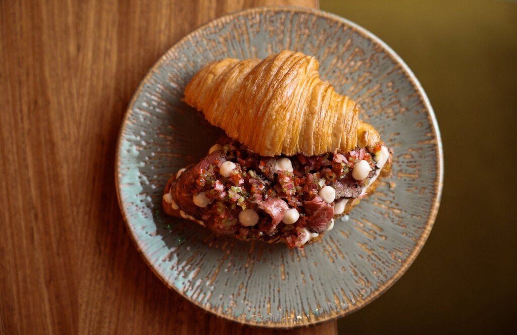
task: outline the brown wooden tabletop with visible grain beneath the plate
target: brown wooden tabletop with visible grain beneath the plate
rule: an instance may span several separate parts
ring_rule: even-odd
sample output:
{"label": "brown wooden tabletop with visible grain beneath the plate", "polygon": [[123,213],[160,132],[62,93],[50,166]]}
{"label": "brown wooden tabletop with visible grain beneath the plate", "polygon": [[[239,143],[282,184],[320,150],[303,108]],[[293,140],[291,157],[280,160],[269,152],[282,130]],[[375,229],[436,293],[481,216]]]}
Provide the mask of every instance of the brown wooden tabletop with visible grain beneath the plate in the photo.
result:
{"label": "brown wooden tabletop with visible grain beneath the plate", "polygon": [[317,0],[0,1],[0,333],[268,332],[192,306],[147,267],[119,212],[115,142],[177,40],[227,12],[295,3]]}

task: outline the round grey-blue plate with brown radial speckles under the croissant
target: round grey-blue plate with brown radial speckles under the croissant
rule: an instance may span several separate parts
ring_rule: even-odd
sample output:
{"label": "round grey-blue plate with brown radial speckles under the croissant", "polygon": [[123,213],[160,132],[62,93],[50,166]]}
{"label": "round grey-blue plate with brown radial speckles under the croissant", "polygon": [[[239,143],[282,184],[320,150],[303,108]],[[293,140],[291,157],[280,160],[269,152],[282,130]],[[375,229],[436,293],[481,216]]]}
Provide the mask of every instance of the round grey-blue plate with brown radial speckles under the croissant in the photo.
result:
{"label": "round grey-blue plate with brown radial speckles under the croissant", "polygon": [[[358,102],[361,117],[394,149],[393,175],[348,221],[304,250],[215,237],[166,217],[161,192],[181,167],[205,156],[220,130],[181,102],[193,74],[225,57],[283,49],[314,55],[320,74]],[[396,281],[427,239],[442,189],[436,120],[413,73],[381,40],[337,16],[255,8],[197,29],[149,71],[121,128],[120,207],[145,260],[164,283],[238,322],[293,327],[342,316]]]}

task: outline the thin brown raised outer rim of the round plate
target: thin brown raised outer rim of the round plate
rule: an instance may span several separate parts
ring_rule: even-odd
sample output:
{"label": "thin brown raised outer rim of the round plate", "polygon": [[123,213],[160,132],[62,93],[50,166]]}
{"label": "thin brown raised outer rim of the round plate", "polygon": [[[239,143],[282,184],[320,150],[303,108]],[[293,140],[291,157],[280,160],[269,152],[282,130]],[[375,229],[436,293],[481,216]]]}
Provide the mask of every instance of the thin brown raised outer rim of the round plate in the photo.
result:
{"label": "thin brown raised outer rim of the round plate", "polygon": [[[192,299],[189,299],[187,296],[185,296],[180,291],[178,291],[176,287],[171,285],[168,281],[166,281],[160,275],[160,273],[155,268],[154,264],[151,263],[150,260],[147,258],[147,256],[143,253],[142,246],[140,245],[140,241],[136,237],[135,232],[131,229],[131,226],[129,224],[126,208],[121,200],[120,185],[119,185],[119,180],[118,180],[118,175],[120,173],[121,143],[122,143],[122,139],[123,139],[123,135],[124,135],[124,130],[126,129],[126,127],[128,125],[128,120],[132,113],[133,105],[136,101],[136,98],[140,95],[141,90],[144,87],[145,83],[147,83],[150,80],[153,73],[162,65],[162,63],[166,59],[166,55],[173,53],[174,49],[179,47],[179,45],[181,45],[182,43],[185,43],[186,41],[199,35],[200,32],[203,31],[204,29],[217,25],[220,21],[231,20],[236,17],[242,16],[243,14],[263,13],[263,12],[267,12],[267,11],[271,11],[271,12],[287,12],[288,11],[288,12],[308,13],[308,14],[312,14],[312,15],[320,17],[320,18],[325,18],[325,19],[329,19],[329,20],[333,20],[333,21],[339,21],[339,22],[344,23],[345,25],[349,26],[350,28],[352,28],[355,32],[359,33],[364,38],[369,39],[374,44],[377,44],[380,47],[382,47],[382,49],[386,52],[386,54],[389,55],[395,63],[397,63],[401,66],[406,78],[409,80],[410,83],[412,83],[416,92],[418,92],[419,99],[421,100],[422,104],[425,106],[425,109],[427,109],[427,117],[429,120],[429,124],[431,125],[431,128],[433,130],[433,136],[435,138],[434,146],[435,146],[435,150],[436,150],[436,179],[434,180],[434,194],[435,195],[434,195],[434,199],[433,199],[433,204],[432,204],[432,207],[430,210],[430,214],[427,218],[427,222],[425,224],[424,231],[420,235],[420,238],[416,242],[415,247],[413,248],[412,252],[408,255],[408,257],[406,258],[406,260],[404,261],[402,266],[399,268],[399,270],[397,272],[394,273],[394,275],[384,285],[379,286],[379,288],[376,291],[374,291],[369,297],[367,297],[366,299],[361,300],[357,304],[351,306],[351,308],[349,308],[348,310],[344,310],[342,313],[337,314],[337,315],[321,315],[321,316],[317,317],[315,319],[315,321],[313,321],[313,322],[300,323],[300,324],[296,324],[296,325],[278,325],[278,324],[258,323],[258,322],[251,322],[251,321],[243,322],[241,319],[231,317],[230,315],[218,313],[218,311],[216,311],[216,310],[208,309],[205,306],[203,306],[202,304],[200,304]],[[431,233],[434,221],[436,219],[436,215],[438,213],[440,200],[442,199],[443,180],[444,180],[443,146],[442,146],[442,137],[440,135],[440,130],[438,128],[438,122],[436,120],[434,110],[431,106],[431,102],[429,101],[429,98],[425,94],[422,85],[416,78],[413,71],[411,71],[409,69],[409,67],[404,62],[404,60],[402,60],[402,58],[396,52],[394,52],[393,49],[391,49],[385,42],[383,42],[380,38],[378,38],[377,36],[372,34],[367,29],[359,26],[358,24],[356,24],[352,21],[349,21],[345,18],[342,18],[340,16],[337,16],[335,14],[331,14],[331,13],[328,13],[328,12],[325,12],[322,10],[295,7],[295,6],[266,6],[266,7],[255,7],[255,8],[249,8],[249,9],[236,11],[236,12],[227,14],[225,16],[219,17],[215,20],[212,20],[212,21],[196,28],[194,31],[192,31],[191,33],[189,33],[188,35],[186,35],[185,37],[183,37],[179,41],[177,41],[167,52],[165,52],[165,54],[163,54],[158,59],[158,61],[153,65],[153,67],[150,68],[150,70],[145,75],[145,78],[140,83],[138,89],[136,89],[135,93],[133,94],[131,102],[128,105],[128,108],[124,115],[123,121],[121,123],[120,131],[119,131],[119,135],[118,135],[118,139],[117,139],[116,153],[115,153],[115,187],[116,187],[116,192],[117,192],[118,204],[119,204],[120,210],[122,212],[126,227],[130,233],[129,235],[131,236],[131,239],[133,240],[133,243],[134,243],[136,249],[142,255],[142,257],[145,260],[145,263],[149,266],[149,268],[155,273],[155,275],[167,287],[176,291],[181,297],[183,297],[184,299],[188,300],[189,302],[195,304],[195,306],[197,306],[207,312],[220,316],[222,318],[228,319],[230,321],[234,321],[236,323],[250,325],[250,326],[264,327],[264,328],[279,328],[279,329],[297,328],[297,327],[301,327],[301,326],[309,326],[309,325],[315,325],[315,324],[320,324],[323,322],[331,321],[333,319],[337,319],[339,317],[351,314],[351,313],[361,309],[362,307],[369,304],[371,301],[375,300],[377,297],[381,296],[384,292],[386,292],[386,290],[388,290],[388,288],[390,288],[394,283],[396,283],[400,279],[400,277],[402,277],[402,275],[409,268],[409,266],[411,264],[413,264],[415,258],[420,253],[420,250],[422,249],[425,241],[429,237],[429,234]]]}

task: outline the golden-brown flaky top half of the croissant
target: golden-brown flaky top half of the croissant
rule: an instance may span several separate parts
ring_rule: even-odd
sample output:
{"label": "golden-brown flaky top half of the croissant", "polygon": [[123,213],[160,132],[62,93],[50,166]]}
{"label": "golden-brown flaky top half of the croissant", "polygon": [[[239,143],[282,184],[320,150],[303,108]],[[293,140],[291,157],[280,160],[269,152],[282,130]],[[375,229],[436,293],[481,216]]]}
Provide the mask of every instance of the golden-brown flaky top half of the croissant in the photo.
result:
{"label": "golden-brown flaky top half of the croissant", "polygon": [[322,81],[318,67],[314,57],[292,51],[226,58],[194,75],[185,102],[262,156],[347,152],[380,142],[359,120],[356,103]]}

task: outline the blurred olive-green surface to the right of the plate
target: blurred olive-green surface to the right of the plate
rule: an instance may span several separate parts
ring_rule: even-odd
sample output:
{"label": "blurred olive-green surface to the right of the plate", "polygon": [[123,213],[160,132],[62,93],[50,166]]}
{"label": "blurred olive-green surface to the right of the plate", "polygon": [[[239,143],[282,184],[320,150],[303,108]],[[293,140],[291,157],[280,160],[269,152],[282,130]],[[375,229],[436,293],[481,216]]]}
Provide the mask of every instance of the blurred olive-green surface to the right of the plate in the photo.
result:
{"label": "blurred olive-green surface to the right of the plate", "polygon": [[415,72],[445,153],[442,204],[415,263],[340,334],[517,333],[517,3],[320,0]]}

